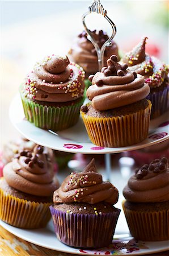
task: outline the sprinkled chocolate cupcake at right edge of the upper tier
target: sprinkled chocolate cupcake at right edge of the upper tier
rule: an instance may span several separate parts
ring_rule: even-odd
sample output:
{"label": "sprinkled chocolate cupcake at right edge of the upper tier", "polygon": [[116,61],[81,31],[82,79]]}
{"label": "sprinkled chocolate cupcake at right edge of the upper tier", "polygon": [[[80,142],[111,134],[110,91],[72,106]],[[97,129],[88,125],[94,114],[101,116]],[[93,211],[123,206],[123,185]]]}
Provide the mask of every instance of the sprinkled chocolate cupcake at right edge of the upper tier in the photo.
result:
{"label": "sprinkled chocolate cupcake at right edge of the upper tier", "polygon": [[152,102],[151,118],[156,118],[169,108],[168,68],[154,56],[145,53],[146,37],[126,53],[122,61],[128,64],[128,69],[145,77],[150,86],[147,100]]}

